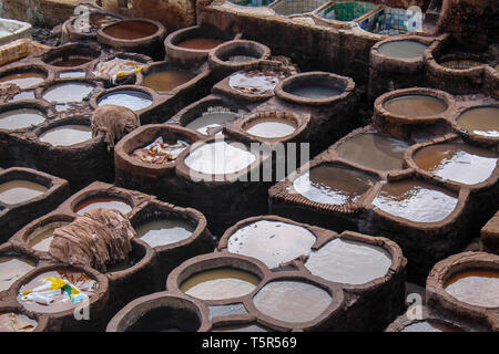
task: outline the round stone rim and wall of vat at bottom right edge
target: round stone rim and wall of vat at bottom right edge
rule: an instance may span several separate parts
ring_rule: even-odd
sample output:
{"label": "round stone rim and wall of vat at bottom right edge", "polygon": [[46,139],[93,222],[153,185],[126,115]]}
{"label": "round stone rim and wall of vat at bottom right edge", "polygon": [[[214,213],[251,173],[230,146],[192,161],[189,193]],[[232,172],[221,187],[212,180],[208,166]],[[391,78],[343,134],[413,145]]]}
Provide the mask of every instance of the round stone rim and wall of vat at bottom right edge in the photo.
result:
{"label": "round stone rim and wall of vat at bottom right edge", "polygon": [[[477,273],[478,272],[478,273]],[[487,327],[487,331],[498,331],[498,319],[499,319],[499,308],[483,306],[480,302],[473,303],[469,301],[471,295],[475,298],[485,291],[486,295],[491,295],[492,293],[487,293],[483,287],[472,288],[473,293],[467,292],[468,298],[461,298],[456,291],[450,291],[449,285],[457,284],[458,279],[467,280],[471,274],[488,275],[488,274],[499,273],[499,256],[486,253],[486,252],[464,252],[451,256],[445,260],[441,260],[435,264],[430,274],[428,275],[426,294],[428,305],[444,312],[451,313],[456,317],[477,323]],[[490,285],[497,287],[497,278],[491,278],[496,280],[496,283],[490,283]],[[466,285],[466,284],[465,284]],[[487,288],[488,291],[493,291],[492,288]],[[457,296],[457,298],[456,298]],[[491,298],[493,299],[493,296]]]}

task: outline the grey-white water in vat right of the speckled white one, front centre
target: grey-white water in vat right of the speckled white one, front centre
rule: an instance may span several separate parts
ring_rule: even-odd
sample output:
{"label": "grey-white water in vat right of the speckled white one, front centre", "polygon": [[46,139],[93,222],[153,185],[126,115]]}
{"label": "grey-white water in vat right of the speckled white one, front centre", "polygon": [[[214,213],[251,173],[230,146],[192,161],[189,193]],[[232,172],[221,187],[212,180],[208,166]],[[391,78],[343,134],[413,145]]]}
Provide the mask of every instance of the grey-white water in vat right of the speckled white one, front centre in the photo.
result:
{"label": "grey-white water in vat right of the speckled white one, front centre", "polygon": [[391,256],[384,248],[335,239],[313,251],[305,263],[312,274],[345,284],[365,284],[385,277]]}

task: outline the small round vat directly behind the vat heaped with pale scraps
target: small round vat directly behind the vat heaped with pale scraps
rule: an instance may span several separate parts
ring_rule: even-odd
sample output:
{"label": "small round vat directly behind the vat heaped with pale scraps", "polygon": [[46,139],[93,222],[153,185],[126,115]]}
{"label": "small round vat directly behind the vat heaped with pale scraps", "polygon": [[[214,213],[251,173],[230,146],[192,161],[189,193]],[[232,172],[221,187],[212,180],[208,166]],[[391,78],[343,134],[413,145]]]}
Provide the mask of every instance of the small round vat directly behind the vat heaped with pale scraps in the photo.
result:
{"label": "small round vat directly behind the vat heaped with pale scraps", "polygon": [[271,49],[262,43],[233,40],[210,52],[208,65],[215,77],[222,79],[236,71],[253,69],[269,55]]}

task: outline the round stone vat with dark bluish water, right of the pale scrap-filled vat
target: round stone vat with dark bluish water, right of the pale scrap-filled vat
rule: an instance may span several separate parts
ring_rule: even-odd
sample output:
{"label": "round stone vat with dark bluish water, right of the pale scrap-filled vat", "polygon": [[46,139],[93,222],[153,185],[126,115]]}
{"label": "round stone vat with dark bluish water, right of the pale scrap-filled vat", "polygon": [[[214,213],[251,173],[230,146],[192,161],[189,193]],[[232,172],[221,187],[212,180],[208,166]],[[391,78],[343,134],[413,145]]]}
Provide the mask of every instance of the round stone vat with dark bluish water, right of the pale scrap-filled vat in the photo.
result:
{"label": "round stone vat with dark bluish water, right of the pale scrap-filled vat", "polygon": [[292,75],[275,87],[277,97],[303,105],[330,105],[355,88],[352,79],[326,72]]}

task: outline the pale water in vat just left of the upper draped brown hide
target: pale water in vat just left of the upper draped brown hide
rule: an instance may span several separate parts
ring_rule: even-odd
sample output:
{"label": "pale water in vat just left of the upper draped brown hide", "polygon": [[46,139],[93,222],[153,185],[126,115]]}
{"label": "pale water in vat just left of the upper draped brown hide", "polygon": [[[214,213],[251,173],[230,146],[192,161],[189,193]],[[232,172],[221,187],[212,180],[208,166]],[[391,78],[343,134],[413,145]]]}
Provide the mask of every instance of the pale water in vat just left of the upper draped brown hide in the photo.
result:
{"label": "pale water in vat just left of the upper draped brown hide", "polygon": [[88,125],[68,124],[53,127],[40,134],[39,139],[52,146],[71,146],[92,138],[92,129]]}

